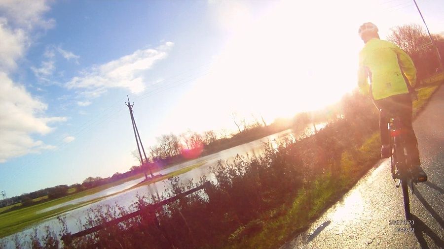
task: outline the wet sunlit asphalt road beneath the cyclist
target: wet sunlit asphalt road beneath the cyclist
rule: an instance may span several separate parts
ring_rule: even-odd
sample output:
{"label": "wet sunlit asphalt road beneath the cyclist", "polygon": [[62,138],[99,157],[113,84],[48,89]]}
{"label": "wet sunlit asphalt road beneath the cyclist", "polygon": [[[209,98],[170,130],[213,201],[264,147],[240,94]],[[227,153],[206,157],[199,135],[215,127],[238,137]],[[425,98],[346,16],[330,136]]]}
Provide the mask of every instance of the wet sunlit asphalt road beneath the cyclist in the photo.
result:
{"label": "wet sunlit asphalt road beneath the cyclist", "polygon": [[390,159],[384,159],[282,249],[444,248],[444,87],[434,94],[413,127],[429,179],[417,184],[415,194],[410,195],[414,225],[390,224],[391,220],[405,220],[404,205],[401,187],[396,188],[391,178]]}

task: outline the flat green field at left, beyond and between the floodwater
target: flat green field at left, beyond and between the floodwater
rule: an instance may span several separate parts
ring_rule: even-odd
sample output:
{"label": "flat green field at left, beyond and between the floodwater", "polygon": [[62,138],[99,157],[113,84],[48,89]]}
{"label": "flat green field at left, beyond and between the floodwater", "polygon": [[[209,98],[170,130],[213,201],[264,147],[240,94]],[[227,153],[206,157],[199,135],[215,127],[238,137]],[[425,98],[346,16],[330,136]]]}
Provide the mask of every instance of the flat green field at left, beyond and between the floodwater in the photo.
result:
{"label": "flat green field at left, beyond and between the floodwater", "polygon": [[[171,177],[178,176],[178,175],[183,174],[187,171],[190,171],[194,168],[202,166],[203,163],[204,162],[193,164],[191,166],[173,171],[169,174],[166,174],[166,175],[163,175],[160,177],[156,177],[148,182],[142,182],[135,187],[140,187],[142,185],[148,185],[151,183],[155,183],[155,182],[162,181],[162,180],[165,180],[165,179],[168,179]],[[85,191],[82,191],[82,192],[79,192],[76,194],[65,196],[65,197],[62,197],[59,199],[51,200],[51,201],[37,204],[37,205],[31,206],[31,207],[26,207],[26,208],[14,210],[14,211],[2,214],[2,215],[0,215],[0,238],[4,237],[4,236],[11,235],[16,232],[19,232],[19,231],[25,229],[26,227],[28,227],[32,224],[35,224],[43,219],[51,218],[51,217],[57,216],[59,214],[62,214],[64,212],[88,205],[90,203],[97,202],[105,197],[110,196],[110,195],[96,198],[96,199],[93,199],[93,200],[90,200],[87,202],[83,202],[83,203],[60,207],[58,209],[51,210],[51,211],[44,212],[44,213],[40,213],[40,214],[37,213],[38,211],[41,211],[46,208],[50,208],[50,207],[57,205],[57,204],[61,204],[61,203],[65,203],[67,201],[74,200],[74,199],[77,199],[77,198],[80,198],[80,197],[83,197],[83,196],[86,196],[89,194],[94,194],[94,193],[104,190],[106,188],[113,187],[113,186],[122,184],[124,182],[130,181],[130,180],[135,180],[135,179],[143,177],[143,176],[144,176],[144,174],[139,174],[139,175],[132,176],[132,177],[129,177],[126,179],[122,179],[122,180],[119,180],[119,181],[116,181],[116,182],[113,182],[110,184],[102,185],[100,187],[91,188],[91,189],[88,189],[88,190],[85,190]],[[131,187],[129,189],[132,189],[132,188],[134,188],[134,187]],[[121,192],[128,191],[129,189],[125,189],[123,191],[114,193],[112,195],[116,195]]]}

